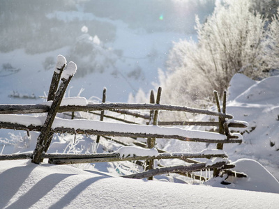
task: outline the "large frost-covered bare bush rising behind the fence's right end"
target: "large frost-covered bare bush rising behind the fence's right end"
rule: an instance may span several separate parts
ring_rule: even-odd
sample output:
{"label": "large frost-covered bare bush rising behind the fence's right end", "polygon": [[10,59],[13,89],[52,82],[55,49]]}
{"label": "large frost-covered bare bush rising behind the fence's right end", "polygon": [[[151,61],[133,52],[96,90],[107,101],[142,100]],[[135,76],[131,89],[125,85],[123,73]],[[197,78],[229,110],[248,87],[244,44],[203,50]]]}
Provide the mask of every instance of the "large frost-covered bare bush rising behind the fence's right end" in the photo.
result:
{"label": "large frost-covered bare bush rising behind the fence's right end", "polygon": [[165,100],[193,104],[225,90],[236,73],[265,76],[266,19],[250,8],[250,1],[224,0],[204,24],[197,18],[197,42],[181,40],[169,52]]}

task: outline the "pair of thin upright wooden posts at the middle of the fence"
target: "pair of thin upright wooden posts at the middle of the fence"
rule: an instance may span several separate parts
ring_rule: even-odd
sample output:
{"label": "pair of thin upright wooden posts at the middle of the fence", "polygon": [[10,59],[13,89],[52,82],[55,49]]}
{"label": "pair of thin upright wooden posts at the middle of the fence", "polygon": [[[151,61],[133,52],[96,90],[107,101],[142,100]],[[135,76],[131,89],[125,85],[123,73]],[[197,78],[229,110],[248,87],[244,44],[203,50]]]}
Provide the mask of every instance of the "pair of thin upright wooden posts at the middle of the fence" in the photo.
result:
{"label": "pair of thin upright wooden posts at the middle of the fence", "polygon": [[[152,95],[153,91],[151,91],[151,95]],[[161,98],[161,94],[162,94],[162,88],[159,87],[158,88],[158,92],[157,92],[157,98],[156,98],[156,104],[160,104],[160,98]],[[152,98],[152,96],[151,96]],[[150,103],[152,104],[155,103],[154,101],[154,93],[153,93],[153,100],[150,101]],[[153,125],[158,125],[158,110],[153,111]],[[151,114],[152,115],[152,114]],[[147,146],[148,148],[154,148],[156,144],[156,138],[149,138],[147,139]],[[148,161],[148,165],[149,165],[149,170],[153,169],[154,167],[154,160],[149,160]],[[153,180],[153,176],[149,177],[148,180]]]}

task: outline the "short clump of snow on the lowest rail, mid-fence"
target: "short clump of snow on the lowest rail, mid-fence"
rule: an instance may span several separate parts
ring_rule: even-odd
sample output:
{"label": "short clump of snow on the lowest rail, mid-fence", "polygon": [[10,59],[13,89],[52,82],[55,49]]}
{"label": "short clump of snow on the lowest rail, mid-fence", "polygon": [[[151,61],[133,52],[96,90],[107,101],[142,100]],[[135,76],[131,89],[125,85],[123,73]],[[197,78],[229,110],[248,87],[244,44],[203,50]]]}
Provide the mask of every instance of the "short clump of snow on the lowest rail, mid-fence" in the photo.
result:
{"label": "short clump of snow on the lowest rail, mid-fence", "polygon": [[140,148],[135,146],[123,146],[119,148],[115,153],[119,153],[120,157],[128,156],[158,156],[158,150],[156,148]]}

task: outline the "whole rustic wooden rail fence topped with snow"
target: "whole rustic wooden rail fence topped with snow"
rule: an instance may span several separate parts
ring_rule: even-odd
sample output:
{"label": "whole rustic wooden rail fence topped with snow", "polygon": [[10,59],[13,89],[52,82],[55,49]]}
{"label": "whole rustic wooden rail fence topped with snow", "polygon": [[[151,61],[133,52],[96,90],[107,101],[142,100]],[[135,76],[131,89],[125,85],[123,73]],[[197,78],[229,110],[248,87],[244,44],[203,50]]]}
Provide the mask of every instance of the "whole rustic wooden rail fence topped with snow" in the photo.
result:
{"label": "whole rustic wooden rail fence topped with snow", "polygon": [[[141,173],[135,173],[126,178],[149,178],[163,173],[179,173],[184,176],[189,176],[189,172],[200,170],[213,170],[213,175],[218,176],[221,173],[232,173],[234,166],[228,164],[228,157],[223,152],[223,144],[241,143],[240,134],[232,134],[229,127],[247,127],[247,124],[242,121],[229,121],[233,116],[226,114],[226,98],[227,93],[223,95],[223,109],[221,109],[218,93],[215,91],[216,104],[218,111],[209,111],[205,109],[195,109],[190,107],[181,107],[167,104],[160,104],[160,96],[162,88],[158,88],[157,97],[151,91],[150,104],[128,104],[128,103],[106,103],[106,89],[103,91],[102,103],[91,103],[85,101],[84,104],[62,104],[61,101],[66,88],[72,79],[77,66],[70,62],[66,67],[66,59],[63,56],[57,57],[56,69],[52,77],[47,104],[0,104],[0,128],[13,130],[26,130],[40,132],[36,144],[36,148],[31,154],[14,154],[0,155],[0,160],[17,160],[31,159],[33,163],[39,164],[44,158],[49,159],[52,164],[75,164],[75,163],[93,163],[93,162],[113,162],[123,160],[137,161],[137,164],[146,164],[147,169]],[[60,82],[60,84],[59,84]],[[149,114],[134,112],[133,110],[149,110]],[[100,116],[100,121],[92,121],[86,118],[76,116],[75,112],[86,111],[91,114]],[[142,118],[145,124],[137,124],[134,121],[124,120],[105,114],[105,111],[113,111],[119,114],[126,114],[136,118]],[[159,121],[158,114],[160,111],[183,111],[193,114],[204,114],[216,116],[218,122],[213,121]],[[58,118],[56,113],[63,112],[70,116],[72,120]],[[33,116],[31,114],[47,113],[47,116]],[[76,119],[77,118],[77,119]],[[116,120],[117,123],[105,122],[104,118]],[[55,119],[55,120],[54,120]],[[78,121],[78,123],[77,123]],[[113,124],[113,125],[112,125]],[[179,125],[200,125],[217,127],[216,132],[199,132],[179,128]],[[176,127],[165,127],[176,126]],[[96,135],[96,143],[100,142],[100,137],[111,139],[110,137],[133,137],[133,144],[138,147],[148,148],[149,150],[156,147],[156,138],[163,139],[178,139],[181,141],[195,141],[202,143],[215,143],[216,150],[206,150],[200,153],[167,153],[165,150],[158,150],[158,155],[128,155],[121,156],[121,153],[92,153],[92,154],[52,154],[47,153],[52,142],[53,134],[68,133],[68,134],[93,134]],[[146,143],[137,141],[137,138],[146,138]],[[117,141],[123,146],[129,144]],[[224,160],[218,160],[211,164],[199,162],[197,158],[212,158],[220,157]],[[190,163],[188,166],[181,165],[175,167],[154,168],[154,160],[158,159],[179,159]],[[241,176],[240,173],[234,175]],[[243,175],[242,175],[243,176]],[[245,176],[245,175],[244,175]],[[202,177],[197,176],[201,179]]]}

